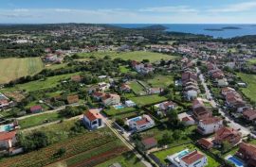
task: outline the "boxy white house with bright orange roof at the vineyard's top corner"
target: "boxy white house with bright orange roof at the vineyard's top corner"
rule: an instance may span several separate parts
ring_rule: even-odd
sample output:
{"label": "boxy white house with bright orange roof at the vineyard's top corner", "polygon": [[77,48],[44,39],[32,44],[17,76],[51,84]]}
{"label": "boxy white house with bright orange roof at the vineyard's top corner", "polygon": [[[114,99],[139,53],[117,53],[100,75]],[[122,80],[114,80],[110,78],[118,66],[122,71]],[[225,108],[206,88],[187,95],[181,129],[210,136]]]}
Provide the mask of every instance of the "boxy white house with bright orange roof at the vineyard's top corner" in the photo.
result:
{"label": "boxy white house with bright orange roof at the vineyard's top corner", "polygon": [[89,129],[97,129],[104,126],[100,109],[89,109],[83,114],[82,123]]}

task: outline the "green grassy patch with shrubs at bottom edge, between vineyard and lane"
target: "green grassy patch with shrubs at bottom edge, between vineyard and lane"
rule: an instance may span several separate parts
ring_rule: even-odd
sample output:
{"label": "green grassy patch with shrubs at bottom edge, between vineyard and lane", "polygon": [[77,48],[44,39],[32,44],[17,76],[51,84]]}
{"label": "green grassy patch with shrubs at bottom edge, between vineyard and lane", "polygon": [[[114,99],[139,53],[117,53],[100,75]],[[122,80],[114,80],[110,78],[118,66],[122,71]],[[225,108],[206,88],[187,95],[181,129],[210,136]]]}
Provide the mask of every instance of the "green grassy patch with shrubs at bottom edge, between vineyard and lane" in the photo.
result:
{"label": "green grassy patch with shrubs at bottom edge, between vineyard and lane", "polygon": [[134,154],[123,154],[122,156],[116,157],[115,159],[109,159],[108,161],[105,161],[101,163],[100,165],[97,165],[96,167],[109,167],[113,163],[117,163],[122,167],[145,167],[143,163],[140,162],[139,159]]}

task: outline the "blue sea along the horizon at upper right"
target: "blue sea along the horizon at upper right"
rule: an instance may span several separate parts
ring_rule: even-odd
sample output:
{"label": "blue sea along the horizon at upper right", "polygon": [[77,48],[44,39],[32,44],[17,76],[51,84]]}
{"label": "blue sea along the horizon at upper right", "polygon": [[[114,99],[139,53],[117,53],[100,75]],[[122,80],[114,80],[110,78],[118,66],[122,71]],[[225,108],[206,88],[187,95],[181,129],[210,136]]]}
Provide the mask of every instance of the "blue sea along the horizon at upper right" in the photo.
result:
{"label": "blue sea along the horizon at upper right", "polygon": [[[125,28],[137,28],[150,26],[152,24],[115,24]],[[256,35],[256,25],[189,25],[189,24],[173,24],[164,25],[167,31],[170,32],[184,32],[192,34],[209,35],[214,38],[233,38],[245,35]],[[209,31],[205,29],[221,29],[227,26],[240,27],[240,29],[224,29],[223,31]]]}

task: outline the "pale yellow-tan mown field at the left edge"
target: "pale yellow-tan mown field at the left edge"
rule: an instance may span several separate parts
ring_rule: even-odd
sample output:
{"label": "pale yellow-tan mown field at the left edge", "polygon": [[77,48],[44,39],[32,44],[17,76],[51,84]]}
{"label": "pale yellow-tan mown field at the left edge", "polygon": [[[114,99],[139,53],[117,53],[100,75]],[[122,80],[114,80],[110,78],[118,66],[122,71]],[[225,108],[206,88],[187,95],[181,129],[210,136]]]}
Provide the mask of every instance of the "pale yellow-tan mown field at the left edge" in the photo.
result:
{"label": "pale yellow-tan mown field at the left edge", "polygon": [[1,58],[0,84],[26,75],[35,75],[43,70],[41,58]]}

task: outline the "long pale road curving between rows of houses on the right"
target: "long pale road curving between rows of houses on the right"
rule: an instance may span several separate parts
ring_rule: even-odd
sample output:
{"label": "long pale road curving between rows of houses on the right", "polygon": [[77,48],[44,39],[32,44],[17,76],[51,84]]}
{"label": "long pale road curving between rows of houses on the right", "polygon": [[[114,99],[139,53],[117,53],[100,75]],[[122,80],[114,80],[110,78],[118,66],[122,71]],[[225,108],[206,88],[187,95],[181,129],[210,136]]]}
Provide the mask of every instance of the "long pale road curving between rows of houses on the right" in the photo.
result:
{"label": "long pale road curving between rows of houses on the right", "polygon": [[[197,73],[200,73],[200,70],[199,70],[197,67],[196,67],[195,69],[196,69],[196,72],[197,72]],[[212,106],[213,108],[218,108],[218,107],[217,107],[217,104],[216,104],[216,102],[214,101],[214,98],[212,98],[211,93],[210,93],[210,90],[209,90],[209,88],[208,88],[208,86],[207,86],[207,84],[206,84],[206,82],[205,82],[204,75],[200,74],[200,75],[199,75],[199,79],[201,80],[202,85],[203,85],[203,87],[205,88],[207,98],[210,99],[210,104],[211,104],[211,106]],[[240,132],[243,134],[243,136],[247,136],[248,134],[251,134],[250,130],[249,130],[247,127],[235,123],[235,122],[232,120],[232,118],[230,118],[230,116],[229,116],[227,113],[225,113],[225,112],[224,112],[222,109],[220,109],[220,108],[218,108],[218,109],[219,109],[219,112],[221,113],[221,115],[222,115],[223,117],[225,117],[226,120],[229,122],[228,125],[229,125],[230,127],[234,128],[234,129],[240,129]],[[251,135],[252,135],[252,134],[251,134]]]}

